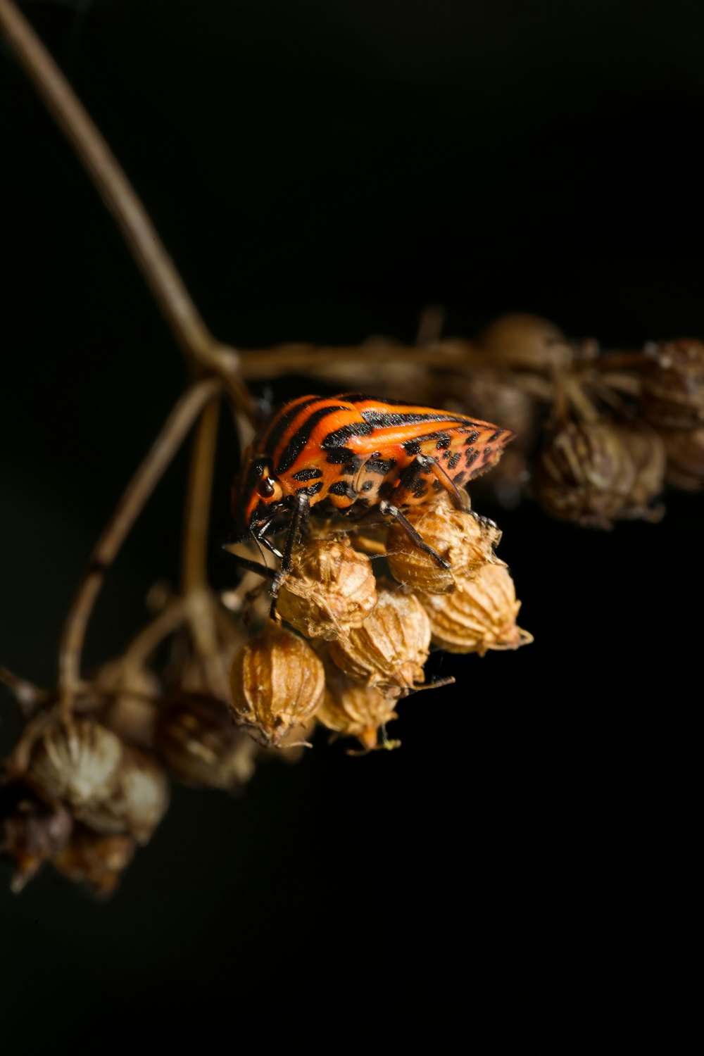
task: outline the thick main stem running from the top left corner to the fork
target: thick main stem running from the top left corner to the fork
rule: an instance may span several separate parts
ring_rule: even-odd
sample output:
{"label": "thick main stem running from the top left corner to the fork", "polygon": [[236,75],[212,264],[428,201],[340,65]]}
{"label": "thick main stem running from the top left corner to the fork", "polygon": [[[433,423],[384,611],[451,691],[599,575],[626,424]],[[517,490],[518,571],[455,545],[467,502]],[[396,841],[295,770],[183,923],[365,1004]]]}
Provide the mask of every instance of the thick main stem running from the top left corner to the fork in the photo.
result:
{"label": "thick main stem running from the top left corner to the fork", "polygon": [[13,0],[0,0],[0,30],[117,222],[182,351],[201,373],[220,375],[239,410],[254,420],[236,352],[217,341],[204,323],[110,147]]}

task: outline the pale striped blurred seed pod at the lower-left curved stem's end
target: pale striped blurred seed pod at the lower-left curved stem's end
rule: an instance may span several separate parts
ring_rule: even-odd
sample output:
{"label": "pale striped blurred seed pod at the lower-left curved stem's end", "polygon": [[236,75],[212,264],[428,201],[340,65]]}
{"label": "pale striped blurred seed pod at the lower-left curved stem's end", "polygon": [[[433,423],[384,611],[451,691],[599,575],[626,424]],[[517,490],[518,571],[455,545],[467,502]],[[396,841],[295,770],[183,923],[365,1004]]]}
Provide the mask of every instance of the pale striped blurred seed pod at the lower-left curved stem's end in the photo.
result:
{"label": "pale striped blurred seed pod at the lower-left curved stem's end", "polygon": [[34,744],[27,782],[40,795],[74,807],[103,800],[116,786],[122,741],[91,719],[74,719],[70,728],[45,729]]}

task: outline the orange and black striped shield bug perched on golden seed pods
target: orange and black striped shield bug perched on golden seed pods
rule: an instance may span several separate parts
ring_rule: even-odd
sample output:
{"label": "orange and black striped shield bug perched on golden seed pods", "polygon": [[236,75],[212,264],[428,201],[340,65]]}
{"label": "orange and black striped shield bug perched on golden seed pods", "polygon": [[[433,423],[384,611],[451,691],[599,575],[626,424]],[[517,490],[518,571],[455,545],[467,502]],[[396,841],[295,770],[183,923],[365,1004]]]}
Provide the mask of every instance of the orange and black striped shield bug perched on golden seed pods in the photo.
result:
{"label": "orange and black striped shield bug perched on golden seed pods", "polygon": [[[458,488],[491,469],[513,439],[462,414],[345,393],[301,396],[275,411],[244,453],[232,489],[234,533],[281,559],[279,572],[239,558],[274,581],[290,568],[292,548],[311,508],[358,518],[376,510],[400,522],[419,547],[449,567],[408,524],[403,510],[444,490],[458,509]],[[287,522],[283,552],[268,535]],[[274,591],[275,592],[275,589]]]}

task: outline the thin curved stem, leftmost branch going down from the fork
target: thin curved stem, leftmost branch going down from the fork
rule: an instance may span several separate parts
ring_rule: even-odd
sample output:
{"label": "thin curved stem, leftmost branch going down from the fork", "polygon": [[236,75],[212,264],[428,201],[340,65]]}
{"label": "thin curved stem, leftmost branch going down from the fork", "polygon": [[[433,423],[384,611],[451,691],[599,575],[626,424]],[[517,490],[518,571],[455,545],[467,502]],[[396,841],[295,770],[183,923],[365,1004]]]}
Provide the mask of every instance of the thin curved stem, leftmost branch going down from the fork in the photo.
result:
{"label": "thin curved stem, leftmost branch going down from the fork", "polygon": [[61,714],[66,720],[71,717],[74,697],[80,685],[85,628],[108,568],[195,417],[221,390],[221,384],[216,378],[205,378],[196,381],[180,397],[95,545],[85,576],[69,609],[59,645],[59,694]]}

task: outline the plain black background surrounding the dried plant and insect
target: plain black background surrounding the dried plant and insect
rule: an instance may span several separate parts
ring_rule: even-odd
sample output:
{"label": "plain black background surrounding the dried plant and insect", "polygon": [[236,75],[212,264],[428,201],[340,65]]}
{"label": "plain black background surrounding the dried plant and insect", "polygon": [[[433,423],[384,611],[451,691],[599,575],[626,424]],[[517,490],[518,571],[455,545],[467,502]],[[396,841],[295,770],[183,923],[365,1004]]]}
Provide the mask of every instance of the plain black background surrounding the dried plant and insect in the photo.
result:
{"label": "plain black background surrounding the dried plant and insect", "polygon": [[[25,8],[224,340],[412,341],[429,302],[465,336],[509,310],[605,346],[704,336],[701,4]],[[6,48],[0,82],[0,654],[51,684],[185,375]],[[235,457],[224,429],[221,586]],[[111,571],[89,664],[177,573],[185,469]],[[700,1051],[704,509],[667,506],[606,534],[484,509],[535,642],[436,657],[457,684],[402,704],[400,751],[317,740],[241,798],[176,789],[106,905],[50,874],[0,889],[8,1051]]]}

